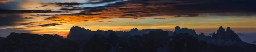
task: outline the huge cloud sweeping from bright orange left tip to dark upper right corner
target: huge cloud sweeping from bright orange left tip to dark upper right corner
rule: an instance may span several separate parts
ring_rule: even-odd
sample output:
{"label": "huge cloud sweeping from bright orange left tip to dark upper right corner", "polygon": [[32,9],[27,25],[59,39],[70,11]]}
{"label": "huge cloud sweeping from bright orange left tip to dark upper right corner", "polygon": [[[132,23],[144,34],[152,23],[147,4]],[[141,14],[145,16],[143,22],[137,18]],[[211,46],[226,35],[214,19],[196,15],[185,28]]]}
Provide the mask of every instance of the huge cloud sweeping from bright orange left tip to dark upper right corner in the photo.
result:
{"label": "huge cloud sweeping from bright orange left tip to dark upper right corner", "polygon": [[[232,0],[231,0],[232,1]],[[256,13],[253,0],[129,0],[105,6],[85,7],[83,13],[47,18],[66,22],[102,21],[113,18],[137,18],[154,16],[196,17],[207,13]],[[94,15],[93,15],[94,14]],[[226,14],[224,14],[226,15]],[[236,16],[236,15],[233,15]],[[247,15],[246,15],[247,16]],[[156,18],[160,19],[160,18]],[[163,18],[161,18],[163,19]]]}

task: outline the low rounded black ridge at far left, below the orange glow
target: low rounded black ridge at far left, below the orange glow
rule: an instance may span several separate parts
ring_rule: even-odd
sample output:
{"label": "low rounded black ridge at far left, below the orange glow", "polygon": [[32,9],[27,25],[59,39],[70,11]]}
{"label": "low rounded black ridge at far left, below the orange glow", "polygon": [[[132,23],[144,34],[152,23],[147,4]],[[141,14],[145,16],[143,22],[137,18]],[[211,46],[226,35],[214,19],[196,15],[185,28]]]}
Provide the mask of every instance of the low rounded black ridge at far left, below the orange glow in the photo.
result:
{"label": "low rounded black ridge at far left, below the orange glow", "polygon": [[81,45],[52,35],[11,33],[1,39],[0,52],[78,52]]}

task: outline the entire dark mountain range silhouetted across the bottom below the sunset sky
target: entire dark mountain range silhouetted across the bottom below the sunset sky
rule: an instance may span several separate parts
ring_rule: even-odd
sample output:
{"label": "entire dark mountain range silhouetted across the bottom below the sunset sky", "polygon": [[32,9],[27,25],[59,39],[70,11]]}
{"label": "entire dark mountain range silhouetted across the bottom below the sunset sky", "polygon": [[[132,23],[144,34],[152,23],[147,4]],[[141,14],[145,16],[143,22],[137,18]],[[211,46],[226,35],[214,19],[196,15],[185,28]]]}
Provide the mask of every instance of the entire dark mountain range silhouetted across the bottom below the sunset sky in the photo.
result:
{"label": "entire dark mountain range silhouetted across the bottom below the sunset sky", "polygon": [[11,33],[0,38],[0,52],[256,52],[256,45],[243,42],[229,27],[205,36],[180,27],[175,32],[137,28],[127,32],[74,26],[67,38]]}

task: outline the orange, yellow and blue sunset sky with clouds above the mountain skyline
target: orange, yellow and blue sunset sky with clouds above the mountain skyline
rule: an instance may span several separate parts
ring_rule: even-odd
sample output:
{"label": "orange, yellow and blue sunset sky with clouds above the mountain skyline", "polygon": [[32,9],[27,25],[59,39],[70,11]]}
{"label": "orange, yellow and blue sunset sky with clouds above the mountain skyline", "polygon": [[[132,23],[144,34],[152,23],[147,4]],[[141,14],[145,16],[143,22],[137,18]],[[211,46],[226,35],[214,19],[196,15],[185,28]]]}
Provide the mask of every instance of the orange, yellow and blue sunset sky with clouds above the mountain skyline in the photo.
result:
{"label": "orange, yellow and blue sunset sky with clouds above the mountain skyline", "polygon": [[175,26],[180,26],[207,35],[223,26],[231,27],[236,33],[256,33],[256,6],[253,2],[254,0],[0,0],[0,36],[23,32],[67,37],[72,26],[93,31],[130,31],[132,28],[174,31]]}

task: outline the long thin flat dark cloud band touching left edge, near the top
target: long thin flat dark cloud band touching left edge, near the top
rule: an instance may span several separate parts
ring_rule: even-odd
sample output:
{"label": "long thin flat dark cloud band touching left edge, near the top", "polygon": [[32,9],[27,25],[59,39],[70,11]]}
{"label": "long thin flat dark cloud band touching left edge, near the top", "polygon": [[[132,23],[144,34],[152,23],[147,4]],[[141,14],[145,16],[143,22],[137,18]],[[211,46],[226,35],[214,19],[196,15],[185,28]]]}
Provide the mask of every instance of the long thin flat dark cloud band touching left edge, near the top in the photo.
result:
{"label": "long thin flat dark cloud band touching left edge, near the top", "polygon": [[21,14],[21,13],[61,13],[61,11],[51,10],[7,10],[0,9],[0,14]]}

